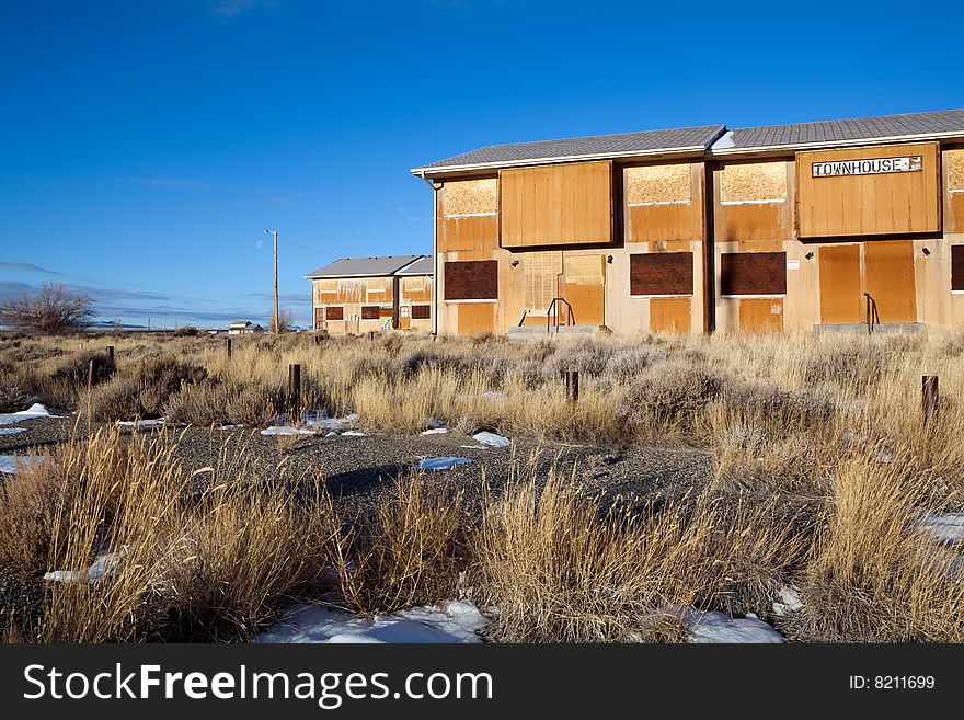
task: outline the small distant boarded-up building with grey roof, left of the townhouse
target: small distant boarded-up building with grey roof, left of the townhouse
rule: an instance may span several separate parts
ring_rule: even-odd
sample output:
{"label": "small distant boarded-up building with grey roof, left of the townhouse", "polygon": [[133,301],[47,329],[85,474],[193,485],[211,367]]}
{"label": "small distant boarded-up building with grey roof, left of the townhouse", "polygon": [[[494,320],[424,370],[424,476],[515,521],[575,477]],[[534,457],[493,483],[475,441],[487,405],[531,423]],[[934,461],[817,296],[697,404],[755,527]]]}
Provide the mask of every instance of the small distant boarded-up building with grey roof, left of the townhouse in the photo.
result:
{"label": "small distant boarded-up building with grey roof, left of the townhouse", "polygon": [[311,281],[315,330],[432,330],[429,256],[343,258],[306,277]]}

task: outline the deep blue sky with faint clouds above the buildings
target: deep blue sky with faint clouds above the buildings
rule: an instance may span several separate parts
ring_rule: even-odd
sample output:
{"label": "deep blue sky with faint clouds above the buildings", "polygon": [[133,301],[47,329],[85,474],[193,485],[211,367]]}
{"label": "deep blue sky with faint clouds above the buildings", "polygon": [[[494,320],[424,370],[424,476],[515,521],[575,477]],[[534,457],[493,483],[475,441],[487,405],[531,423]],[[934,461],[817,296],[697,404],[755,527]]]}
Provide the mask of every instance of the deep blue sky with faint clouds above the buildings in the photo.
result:
{"label": "deep blue sky with faint clouds above the buildings", "polygon": [[223,325],[427,253],[409,169],[484,145],[964,107],[964,3],[3,0],[0,298]]}

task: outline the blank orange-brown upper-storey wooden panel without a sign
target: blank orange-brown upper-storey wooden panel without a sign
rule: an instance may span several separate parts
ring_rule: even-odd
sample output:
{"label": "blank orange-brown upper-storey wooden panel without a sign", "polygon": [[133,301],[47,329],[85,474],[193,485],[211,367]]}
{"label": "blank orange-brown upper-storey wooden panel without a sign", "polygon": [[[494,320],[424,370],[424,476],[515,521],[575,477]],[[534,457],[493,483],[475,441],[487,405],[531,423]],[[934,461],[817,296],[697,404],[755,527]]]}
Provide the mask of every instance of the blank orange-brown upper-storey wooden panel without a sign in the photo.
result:
{"label": "blank orange-brown upper-storey wooden panel without a sign", "polygon": [[609,161],[502,170],[498,193],[503,248],[613,241]]}

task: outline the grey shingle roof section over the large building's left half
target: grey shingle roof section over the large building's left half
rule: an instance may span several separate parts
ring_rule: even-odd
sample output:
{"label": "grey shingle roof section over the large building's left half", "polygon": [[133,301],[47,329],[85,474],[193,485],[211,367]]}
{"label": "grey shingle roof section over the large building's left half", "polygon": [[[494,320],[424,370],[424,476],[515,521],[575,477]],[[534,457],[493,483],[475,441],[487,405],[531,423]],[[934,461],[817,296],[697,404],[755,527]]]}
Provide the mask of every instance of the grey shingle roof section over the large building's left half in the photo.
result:
{"label": "grey shingle roof section over the large building's left half", "polygon": [[644,130],[617,135],[596,135],[563,140],[539,140],[514,145],[492,145],[452,158],[431,162],[416,171],[443,168],[472,168],[475,165],[519,164],[528,161],[585,157],[623,156],[633,152],[705,149],[723,130],[723,125],[681,127],[669,130]]}

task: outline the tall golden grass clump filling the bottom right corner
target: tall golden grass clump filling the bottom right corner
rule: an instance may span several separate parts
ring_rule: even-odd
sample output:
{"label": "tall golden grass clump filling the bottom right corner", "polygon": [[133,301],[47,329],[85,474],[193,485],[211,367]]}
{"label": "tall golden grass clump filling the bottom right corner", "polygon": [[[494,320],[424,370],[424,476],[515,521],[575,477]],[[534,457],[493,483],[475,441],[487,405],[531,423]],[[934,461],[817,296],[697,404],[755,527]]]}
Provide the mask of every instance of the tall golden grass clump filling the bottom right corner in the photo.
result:
{"label": "tall golden grass clump filling the bottom right corner", "polygon": [[922,500],[899,458],[854,457],[839,469],[829,522],[788,631],[823,642],[961,642],[962,558],[918,526]]}

